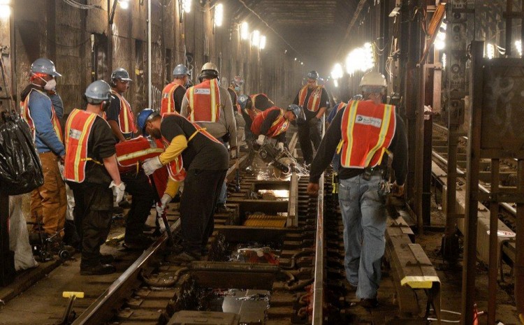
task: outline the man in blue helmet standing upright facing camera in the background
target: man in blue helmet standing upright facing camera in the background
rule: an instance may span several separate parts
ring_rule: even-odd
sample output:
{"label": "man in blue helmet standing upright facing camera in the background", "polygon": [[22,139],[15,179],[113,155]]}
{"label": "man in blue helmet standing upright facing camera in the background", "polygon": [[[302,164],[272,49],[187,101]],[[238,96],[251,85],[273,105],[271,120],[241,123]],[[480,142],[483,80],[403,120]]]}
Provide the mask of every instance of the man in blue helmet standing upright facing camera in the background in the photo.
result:
{"label": "man in blue helmet standing upright facing camera in the background", "polygon": [[306,120],[298,124],[298,140],[304,155],[304,163],[311,164],[313,160],[313,148],[318,149],[321,140],[322,116],[329,106],[329,97],[326,89],[319,85],[316,80],[319,73],[310,71],[307,73],[307,85],[302,87],[295,97],[294,104],[304,108]]}

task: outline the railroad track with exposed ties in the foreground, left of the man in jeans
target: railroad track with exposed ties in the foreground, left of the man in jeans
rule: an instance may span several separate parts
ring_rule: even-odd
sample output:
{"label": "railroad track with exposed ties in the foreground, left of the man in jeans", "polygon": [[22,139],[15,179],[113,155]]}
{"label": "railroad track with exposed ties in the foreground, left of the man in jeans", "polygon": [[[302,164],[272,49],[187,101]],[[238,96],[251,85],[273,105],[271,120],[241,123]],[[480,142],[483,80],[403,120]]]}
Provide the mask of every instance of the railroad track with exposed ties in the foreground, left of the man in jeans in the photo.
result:
{"label": "railroad track with exposed ties in the foreground, left of the man in jeans", "polygon": [[[232,166],[228,178],[235,174]],[[167,238],[161,236],[73,324],[168,324],[173,315],[231,317],[225,311],[240,314],[245,323],[322,324],[328,316],[323,314],[326,277],[321,274],[328,273],[325,250],[319,249],[326,247],[323,227],[317,229],[316,219],[323,219],[323,212],[316,198],[307,196],[307,178],[293,176],[291,182],[260,180],[244,171],[239,175],[240,191],[230,182],[228,207],[233,212],[215,216],[208,257],[172,261]],[[296,194],[289,193],[291,188]],[[280,192],[288,199],[270,198]],[[288,222],[290,211],[297,226],[268,227]],[[171,229],[177,233],[177,212],[174,217]]]}

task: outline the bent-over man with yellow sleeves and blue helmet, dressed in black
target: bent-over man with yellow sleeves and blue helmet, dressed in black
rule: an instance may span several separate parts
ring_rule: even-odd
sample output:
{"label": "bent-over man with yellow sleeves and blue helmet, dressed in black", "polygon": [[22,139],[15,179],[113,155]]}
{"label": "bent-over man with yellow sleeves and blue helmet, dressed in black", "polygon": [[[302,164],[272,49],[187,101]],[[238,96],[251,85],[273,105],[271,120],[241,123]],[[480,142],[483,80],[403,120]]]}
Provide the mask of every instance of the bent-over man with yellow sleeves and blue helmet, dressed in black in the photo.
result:
{"label": "bent-over man with yellow sleeves and blue helmet, dressed in black", "polygon": [[[175,259],[200,259],[213,231],[214,208],[228,169],[228,150],[205,129],[177,113],[160,116],[153,110],[143,110],[138,120],[145,121],[139,125],[143,131],[167,144],[163,154],[144,162],[146,175],[182,157],[187,172],[179,208],[184,250]],[[162,208],[166,203],[162,200]]]}

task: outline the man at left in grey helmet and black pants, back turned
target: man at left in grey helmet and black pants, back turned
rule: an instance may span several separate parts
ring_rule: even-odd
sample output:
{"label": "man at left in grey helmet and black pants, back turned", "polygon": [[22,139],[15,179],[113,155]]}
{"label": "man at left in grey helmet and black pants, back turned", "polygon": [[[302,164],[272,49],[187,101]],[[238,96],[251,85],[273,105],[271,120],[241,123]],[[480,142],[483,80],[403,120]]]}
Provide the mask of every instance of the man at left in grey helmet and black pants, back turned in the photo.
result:
{"label": "man at left in grey helmet and black pants, back turned", "polygon": [[66,122],[64,178],[75,196],[75,224],[81,231],[81,275],[115,272],[110,256],[100,254],[108,238],[113,192],[122,201],[126,185],[120,179],[116,140],[102,117],[111,101],[107,82],[96,80],[85,90],[87,108],[74,109]]}

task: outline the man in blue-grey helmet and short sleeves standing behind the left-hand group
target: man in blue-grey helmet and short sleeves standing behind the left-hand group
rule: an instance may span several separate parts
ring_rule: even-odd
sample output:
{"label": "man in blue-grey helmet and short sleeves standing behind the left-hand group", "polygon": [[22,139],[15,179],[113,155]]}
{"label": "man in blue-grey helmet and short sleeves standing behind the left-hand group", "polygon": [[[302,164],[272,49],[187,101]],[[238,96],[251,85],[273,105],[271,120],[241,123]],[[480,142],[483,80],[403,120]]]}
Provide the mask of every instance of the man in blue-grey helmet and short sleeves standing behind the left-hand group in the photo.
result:
{"label": "man in blue-grey helmet and short sleeves standing behind the left-hand group", "polygon": [[106,113],[108,123],[117,140],[123,142],[136,135],[135,117],[124,92],[129,89],[129,73],[124,68],[117,68],[111,73],[111,106]]}

